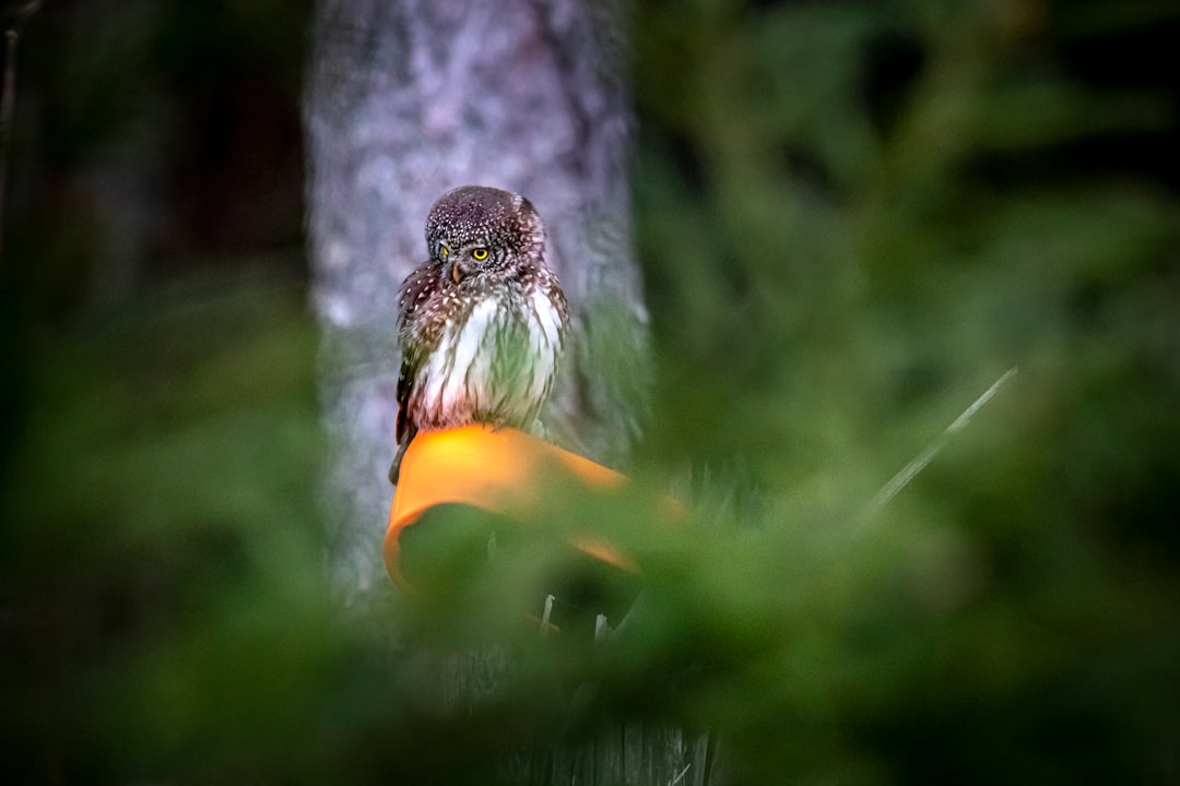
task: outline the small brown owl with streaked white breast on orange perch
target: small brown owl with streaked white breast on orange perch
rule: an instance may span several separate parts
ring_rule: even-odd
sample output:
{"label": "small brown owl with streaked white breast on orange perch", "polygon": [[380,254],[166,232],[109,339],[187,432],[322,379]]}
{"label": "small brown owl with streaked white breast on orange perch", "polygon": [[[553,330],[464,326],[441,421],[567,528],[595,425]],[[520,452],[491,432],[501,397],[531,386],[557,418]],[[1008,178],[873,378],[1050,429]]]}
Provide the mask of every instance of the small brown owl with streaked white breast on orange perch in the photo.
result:
{"label": "small brown owl with streaked white breast on orange perch", "polygon": [[426,218],[430,259],[398,292],[398,454],[419,431],[491,423],[535,429],[569,313],[545,264],[532,203],[485,186],[442,194]]}

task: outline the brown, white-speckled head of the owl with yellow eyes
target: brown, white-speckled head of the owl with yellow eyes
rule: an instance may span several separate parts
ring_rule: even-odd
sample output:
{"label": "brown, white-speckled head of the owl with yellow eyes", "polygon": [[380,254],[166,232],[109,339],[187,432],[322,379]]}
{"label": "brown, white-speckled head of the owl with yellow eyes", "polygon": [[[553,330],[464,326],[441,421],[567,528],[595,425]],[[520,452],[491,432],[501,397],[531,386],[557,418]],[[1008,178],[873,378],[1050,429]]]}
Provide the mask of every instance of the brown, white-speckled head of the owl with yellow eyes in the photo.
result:
{"label": "brown, white-speckled head of the owl with yellow eyes", "polygon": [[465,185],[439,197],[426,217],[426,246],[455,284],[543,264],[545,226],[520,194]]}

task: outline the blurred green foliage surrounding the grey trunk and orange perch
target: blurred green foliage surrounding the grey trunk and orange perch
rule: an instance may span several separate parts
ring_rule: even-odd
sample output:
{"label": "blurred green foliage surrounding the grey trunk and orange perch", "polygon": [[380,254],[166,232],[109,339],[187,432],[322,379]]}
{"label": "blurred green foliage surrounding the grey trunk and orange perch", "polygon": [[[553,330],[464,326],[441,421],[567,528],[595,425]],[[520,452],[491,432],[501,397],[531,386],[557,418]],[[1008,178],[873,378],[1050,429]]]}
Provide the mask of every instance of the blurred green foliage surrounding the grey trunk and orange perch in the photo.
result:
{"label": "blurred green foliage surrounding the grey trunk and orange perch", "polygon": [[[1174,2],[640,4],[636,488],[555,491],[487,567],[455,530],[421,608],[328,587],[302,284],[217,259],[63,306],[77,269],[34,262],[92,217],[60,209],[5,273],[6,774],[511,782],[522,748],[667,724],[719,740],[720,782],[1175,782],[1178,32]],[[669,484],[690,513],[656,524]],[[597,649],[526,621],[579,529],[644,570]]]}

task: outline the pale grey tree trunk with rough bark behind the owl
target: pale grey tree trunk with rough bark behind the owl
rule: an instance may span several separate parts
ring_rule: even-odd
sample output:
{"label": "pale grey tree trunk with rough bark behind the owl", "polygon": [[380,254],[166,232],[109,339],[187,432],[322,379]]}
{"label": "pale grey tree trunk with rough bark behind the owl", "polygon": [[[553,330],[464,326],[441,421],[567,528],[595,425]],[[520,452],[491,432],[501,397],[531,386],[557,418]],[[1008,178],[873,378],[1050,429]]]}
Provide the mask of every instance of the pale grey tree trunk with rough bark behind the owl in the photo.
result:
{"label": "pale grey tree trunk with rough bark behind the owl", "polygon": [[322,399],[339,445],[330,556],[348,594],[384,582],[392,498],[395,293],[445,190],[529,197],[575,315],[548,422],[620,465],[645,383],[631,253],[632,115],[615,0],[320,0],[304,97]]}

